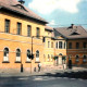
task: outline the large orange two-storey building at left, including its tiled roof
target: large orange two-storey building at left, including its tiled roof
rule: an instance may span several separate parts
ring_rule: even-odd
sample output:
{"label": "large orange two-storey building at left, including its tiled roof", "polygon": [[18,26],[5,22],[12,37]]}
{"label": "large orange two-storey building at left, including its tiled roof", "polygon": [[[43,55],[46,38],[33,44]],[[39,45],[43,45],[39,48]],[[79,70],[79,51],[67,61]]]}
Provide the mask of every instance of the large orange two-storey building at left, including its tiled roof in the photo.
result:
{"label": "large orange two-storey building at left, including its tiled roof", "polygon": [[[23,0],[21,0],[23,1]],[[33,72],[44,59],[47,21],[17,0],[0,0],[0,71]],[[32,48],[33,47],[33,48]],[[28,59],[33,52],[34,60]]]}

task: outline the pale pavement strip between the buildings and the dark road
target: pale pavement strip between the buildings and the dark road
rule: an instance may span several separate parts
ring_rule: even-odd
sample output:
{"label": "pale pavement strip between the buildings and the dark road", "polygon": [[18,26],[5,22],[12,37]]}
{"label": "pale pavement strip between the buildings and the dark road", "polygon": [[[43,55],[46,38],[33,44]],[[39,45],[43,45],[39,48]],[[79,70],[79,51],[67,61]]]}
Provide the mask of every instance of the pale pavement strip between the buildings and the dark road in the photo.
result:
{"label": "pale pavement strip between the buildings and the dark road", "polygon": [[0,77],[17,77],[17,76],[35,76],[35,75],[44,75],[47,73],[53,74],[53,73],[71,73],[71,72],[87,72],[87,67],[80,67],[80,66],[73,66],[72,70],[70,69],[63,69],[59,66],[47,66],[46,69],[41,70],[40,72],[33,72],[33,73],[0,73]]}

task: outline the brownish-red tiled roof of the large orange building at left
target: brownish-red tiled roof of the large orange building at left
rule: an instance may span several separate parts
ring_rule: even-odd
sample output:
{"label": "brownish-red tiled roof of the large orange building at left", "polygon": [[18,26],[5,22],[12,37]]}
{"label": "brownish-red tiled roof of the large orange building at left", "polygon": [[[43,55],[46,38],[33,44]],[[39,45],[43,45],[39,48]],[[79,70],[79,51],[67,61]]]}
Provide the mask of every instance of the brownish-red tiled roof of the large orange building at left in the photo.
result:
{"label": "brownish-red tiled roof of the large orange building at left", "polygon": [[13,5],[16,5],[16,4],[20,4],[20,2],[17,2],[17,0],[0,0],[0,7],[2,7],[2,8],[5,8],[8,10],[13,11],[13,12],[17,12],[17,13],[21,13],[21,14],[23,14],[25,16],[33,17],[35,20],[38,20],[38,21],[47,23],[46,20],[44,20],[42,17],[38,16],[37,14],[35,14],[33,11],[30,11],[27,8],[25,8],[24,5],[23,7],[27,11],[22,10],[22,9],[20,9],[17,7],[13,7]]}

